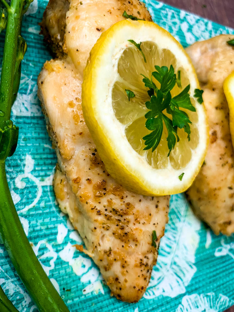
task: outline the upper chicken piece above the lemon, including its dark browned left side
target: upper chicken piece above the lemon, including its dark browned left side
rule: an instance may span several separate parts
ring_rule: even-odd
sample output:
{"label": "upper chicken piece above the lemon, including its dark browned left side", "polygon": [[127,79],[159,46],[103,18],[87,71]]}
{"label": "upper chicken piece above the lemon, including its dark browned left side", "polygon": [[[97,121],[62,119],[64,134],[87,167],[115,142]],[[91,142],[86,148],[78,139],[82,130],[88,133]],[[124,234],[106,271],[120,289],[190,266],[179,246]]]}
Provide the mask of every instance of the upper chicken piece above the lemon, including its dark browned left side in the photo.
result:
{"label": "upper chicken piece above the lemon, including its dark browned left side", "polygon": [[68,52],[75,66],[83,71],[94,43],[102,32],[124,19],[124,11],[152,21],[144,3],[139,0],[50,0],[40,23],[41,34],[57,57]]}

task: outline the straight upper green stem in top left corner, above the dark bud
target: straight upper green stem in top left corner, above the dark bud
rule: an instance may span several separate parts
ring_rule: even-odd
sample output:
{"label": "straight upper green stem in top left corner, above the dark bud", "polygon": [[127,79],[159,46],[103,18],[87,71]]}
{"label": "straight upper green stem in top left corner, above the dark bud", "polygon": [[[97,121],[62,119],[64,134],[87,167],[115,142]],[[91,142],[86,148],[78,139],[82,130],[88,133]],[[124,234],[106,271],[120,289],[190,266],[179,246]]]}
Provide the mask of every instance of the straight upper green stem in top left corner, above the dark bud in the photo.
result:
{"label": "straight upper green stem in top left corner, above the dark bud", "polygon": [[21,33],[23,5],[23,0],[12,0],[11,7],[8,6],[9,9],[7,15],[7,28],[0,83],[0,110],[4,113],[4,116],[0,116],[0,128],[3,128],[5,122],[10,119],[11,115],[11,105],[13,98],[12,90],[17,53],[16,47],[18,36]]}

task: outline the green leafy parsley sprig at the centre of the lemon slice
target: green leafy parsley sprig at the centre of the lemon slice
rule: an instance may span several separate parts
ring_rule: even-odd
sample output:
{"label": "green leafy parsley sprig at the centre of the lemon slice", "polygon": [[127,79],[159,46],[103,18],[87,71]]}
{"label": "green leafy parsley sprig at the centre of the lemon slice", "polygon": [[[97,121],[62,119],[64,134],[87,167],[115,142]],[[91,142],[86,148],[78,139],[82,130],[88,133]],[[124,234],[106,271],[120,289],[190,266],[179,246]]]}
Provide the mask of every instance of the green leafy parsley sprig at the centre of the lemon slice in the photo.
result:
{"label": "green leafy parsley sprig at the centre of the lemon slice", "polygon": [[[143,137],[145,140],[144,150],[152,149],[152,152],[158,147],[158,144],[162,138],[163,133],[163,123],[166,126],[168,136],[168,155],[170,155],[172,149],[174,149],[176,142],[179,141],[177,134],[177,129],[184,129],[184,132],[187,133],[188,141],[190,140],[190,126],[192,124],[188,114],[186,114],[180,108],[190,110],[195,112],[196,109],[192,105],[189,89],[190,85],[187,85],[178,95],[172,97],[171,90],[178,85],[181,88],[180,72],[176,74],[174,68],[171,65],[169,70],[167,66],[154,66],[155,70],[152,72],[150,79],[142,75],[143,82],[146,88],[149,88],[148,95],[150,100],[145,103],[149,111],[145,114],[147,119],[145,126],[151,132]],[[153,81],[153,77],[160,83],[160,88],[156,86]],[[164,111],[167,114],[172,116],[172,119],[168,118],[165,115]]]}

